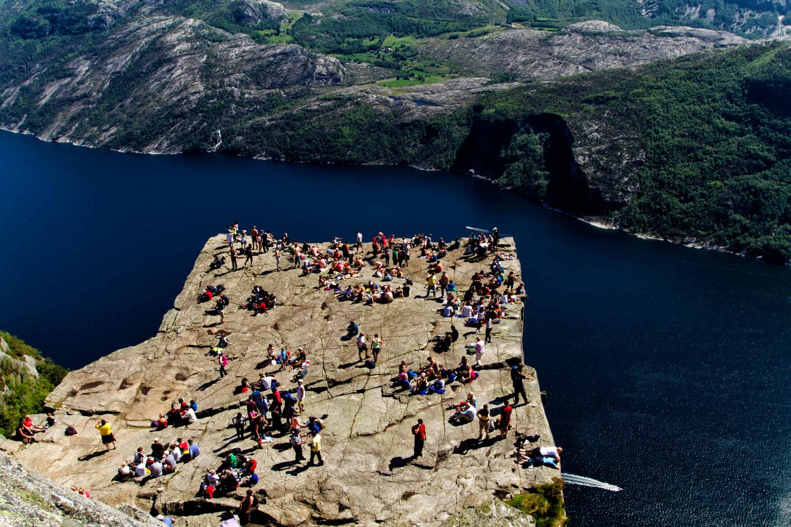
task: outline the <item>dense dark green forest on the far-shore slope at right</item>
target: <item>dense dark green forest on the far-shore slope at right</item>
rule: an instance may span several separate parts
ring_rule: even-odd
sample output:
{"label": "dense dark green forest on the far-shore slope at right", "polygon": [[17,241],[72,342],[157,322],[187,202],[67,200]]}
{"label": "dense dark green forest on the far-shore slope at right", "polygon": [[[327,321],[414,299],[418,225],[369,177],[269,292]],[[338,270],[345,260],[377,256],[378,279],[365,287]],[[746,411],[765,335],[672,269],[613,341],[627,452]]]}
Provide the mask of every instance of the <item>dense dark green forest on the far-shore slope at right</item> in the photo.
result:
{"label": "dense dark green forest on the far-shore slope at right", "polygon": [[[502,186],[550,201],[546,137],[530,126],[553,114],[578,130],[607,122],[636,137],[638,190],[600,212],[632,232],[712,244],[778,261],[791,258],[791,50],[785,43],[689,55],[483,97],[428,122],[397,122],[354,101],[297,111],[264,129],[229,126],[226,149],[313,162],[380,161],[463,170],[471,131],[493,141]],[[499,145],[499,146],[498,146]],[[562,197],[554,205],[564,205]],[[568,209],[568,207],[566,207]],[[591,211],[589,211],[591,212]]]}

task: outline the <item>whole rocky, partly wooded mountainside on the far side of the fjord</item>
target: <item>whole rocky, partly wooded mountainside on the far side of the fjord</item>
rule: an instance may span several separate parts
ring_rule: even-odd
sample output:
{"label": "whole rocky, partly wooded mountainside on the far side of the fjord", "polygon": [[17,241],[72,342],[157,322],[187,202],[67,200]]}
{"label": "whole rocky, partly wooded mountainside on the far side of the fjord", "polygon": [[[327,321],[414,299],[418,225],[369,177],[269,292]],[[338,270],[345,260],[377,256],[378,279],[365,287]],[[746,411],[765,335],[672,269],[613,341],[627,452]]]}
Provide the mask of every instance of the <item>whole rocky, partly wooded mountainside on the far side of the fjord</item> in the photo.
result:
{"label": "whole rocky, partly wooded mountainside on the far side of the fjord", "polygon": [[[589,6],[574,2],[576,10],[488,0],[355,0],[300,3],[291,10],[268,0],[37,2],[8,1],[0,11],[0,39],[6,43],[0,48],[0,126],[6,129],[121,151],[214,150],[473,170],[539,201],[603,216],[634,232],[705,240],[703,245],[751,254],[787,252],[785,241],[775,247],[786,239],[778,230],[785,225],[784,207],[752,213],[756,205],[733,205],[751,195],[744,186],[735,191],[739,199],[714,199],[716,185],[703,186],[706,192],[694,198],[684,194],[690,185],[710,183],[702,171],[714,170],[722,180],[781,172],[783,127],[773,135],[756,123],[785,122],[785,103],[776,96],[787,85],[785,0],[683,4],[691,9],[682,13],[686,26],[671,25],[681,21],[681,7],[664,0],[612,0],[606,21],[580,21]],[[734,17],[738,28],[731,24]],[[757,38],[763,35],[775,37]],[[743,50],[751,48],[766,62],[744,58],[752,52]],[[732,53],[719,55],[730,68],[723,83],[686,69],[683,57],[728,49]],[[648,66],[668,60],[676,62],[660,70],[671,79],[688,78],[687,85],[669,89],[653,77],[657,70]],[[707,73],[717,70],[700,60]],[[621,71],[619,85],[634,91],[602,85],[610,81],[608,74],[585,77],[613,69]],[[657,85],[668,88],[668,101],[634,98]],[[714,93],[707,92],[712,85]],[[538,92],[551,92],[552,104],[533,104],[544,100],[536,98]],[[695,105],[694,97],[704,92],[714,99]],[[504,95],[496,100],[494,94]],[[557,104],[564,97],[577,101],[577,115],[569,117]],[[629,98],[638,115],[651,119],[611,119],[618,111],[611,101]],[[664,119],[666,103],[684,109]],[[491,125],[470,112],[482,105],[494,115],[523,115],[481,133],[476,126]],[[679,146],[683,154],[645,145],[654,141],[645,133],[650,124],[659,123],[657,133],[670,134],[664,142],[675,143],[674,130],[687,126],[692,109],[704,107],[721,120],[714,122],[725,124],[707,134],[688,130],[690,145]],[[710,118],[696,122],[709,127]],[[527,129],[536,133],[514,136]],[[743,141],[760,152],[770,145],[771,153],[747,159],[748,150],[731,137],[742,132],[748,138]],[[722,152],[727,168],[703,162],[713,159],[713,137],[730,145]],[[539,151],[541,163],[533,156]],[[675,160],[698,151],[706,154],[679,165],[682,175],[657,180],[662,169],[647,175],[644,168],[654,155]],[[464,152],[481,155],[476,160]],[[517,159],[524,156],[531,159]],[[648,199],[643,193],[656,181],[672,188],[660,195],[672,194],[676,201],[630,209]],[[681,221],[685,200],[704,195],[705,206],[688,208],[698,211],[695,220]]]}

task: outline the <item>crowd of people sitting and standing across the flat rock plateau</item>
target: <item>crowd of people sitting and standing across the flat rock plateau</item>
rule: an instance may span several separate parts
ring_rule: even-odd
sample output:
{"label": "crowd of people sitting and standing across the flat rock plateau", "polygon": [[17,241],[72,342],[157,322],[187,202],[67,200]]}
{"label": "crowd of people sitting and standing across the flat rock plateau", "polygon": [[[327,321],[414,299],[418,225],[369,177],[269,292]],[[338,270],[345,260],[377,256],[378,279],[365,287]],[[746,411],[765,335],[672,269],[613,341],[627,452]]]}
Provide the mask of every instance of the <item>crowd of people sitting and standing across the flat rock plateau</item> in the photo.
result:
{"label": "crowd of people sitting and standing across the flat rock plateau", "polygon": [[[526,297],[524,283],[519,280],[516,273],[506,269],[506,262],[513,259],[513,256],[500,251],[496,228],[488,235],[471,234],[467,239],[463,258],[468,262],[489,260],[489,263],[481,265],[480,270],[472,275],[469,287],[464,291],[460,291],[459,284],[452,277],[452,269],[449,269],[444,262],[450,251],[461,248],[462,242],[459,239],[447,244],[442,238],[434,242],[431,234],[421,233],[395,239],[393,235],[386,237],[379,232],[371,240],[370,251],[366,252],[363,247],[363,237],[360,232],[356,232],[351,244],[336,238],[323,250],[315,244],[300,244],[297,240],[290,239],[288,233],[275,239],[269,231],[259,230],[253,226],[248,233],[245,229],[240,229],[238,224],[229,225],[226,239],[228,250],[215,255],[210,269],[219,270],[226,265],[230,266],[230,271],[238,269],[237,258],[242,254],[245,256],[242,266],[252,267],[256,255],[272,250],[275,264],[272,270],[281,271],[283,270],[282,254],[290,254],[293,257],[292,269],[301,269],[301,275],[304,277],[318,275],[319,288],[331,291],[338,301],[365,303],[370,306],[410,298],[414,294],[414,282],[411,277],[415,276],[415,272],[411,271],[407,276],[404,269],[411,263],[414,265],[413,258],[420,258],[425,262],[427,272],[424,298],[433,298],[437,303],[441,303],[437,311],[442,317],[451,318],[452,321],[462,318],[464,326],[471,329],[472,334],[480,333],[482,329],[485,329],[485,333],[483,340],[476,334],[474,343],[464,347],[464,355],[454,367],[445,367],[433,356],[429,356],[425,363],[416,367],[402,360],[393,381],[393,388],[416,396],[443,394],[454,382],[473,386],[475,379],[479,378],[483,369],[486,369],[486,344],[490,344],[493,340],[494,326],[508,314],[509,308],[519,306]],[[373,275],[371,280],[354,281],[363,277],[368,270]],[[392,283],[394,280],[398,281]],[[230,300],[223,284],[206,286],[198,300],[201,303],[213,304],[206,313],[219,316],[220,323],[225,322],[225,308],[229,306]],[[241,310],[252,311],[255,316],[267,314],[277,305],[278,298],[274,292],[267,291],[260,284],[255,284],[248,298],[239,303],[238,307]],[[214,333],[217,341],[210,347],[211,352],[217,357],[220,378],[228,375],[225,367],[229,364],[229,357],[226,352],[233,344],[229,335],[230,333],[224,330]],[[430,342],[433,345],[432,352],[437,354],[452,352],[459,338],[456,322],[451,322],[448,331],[433,337],[433,341]],[[380,354],[385,347],[383,336],[373,333],[373,337],[370,337],[353,320],[347,326],[342,340],[353,341],[356,344],[358,360],[365,363],[365,366],[377,367]],[[294,464],[306,461],[304,446],[308,445],[310,457],[307,465],[324,465],[321,454],[324,419],[304,417],[307,406],[305,382],[310,363],[305,348],[299,347],[292,353],[286,345],[279,346],[279,349],[272,343],[267,346],[266,355],[256,367],[269,372],[260,372],[258,379],[254,381],[244,377],[239,385],[234,386],[235,393],[246,397],[244,412],[237,412],[229,423],[236,433],[237,441],[252,440],[259,448],[263,448],[264,444],[274,442],[277,437],[287,437],[290,449],[294,453]],[[490,435],[505,438],[513,427],[511,416],[513,408],[520,403],[520,397],[524,404],[528,404],[524,381],[532,380],[524,373],[524,365],[521,362],[513,364],[509,372],[513,384],[513,396],[511,396],[513,402],[509,402],[510,397],[501,397],[504,401],[501,406],[495,408],[491,403],[487,403],[479,407],[474,392],[470,391],[464,401],[452,405],[453,415],[450,422],[456,425],[479,423],[477,439],[481,441],[490,439]],[[289,381],[292,386],[282,386],[283,382]],[[152,420],[151,427],[161,436],[169,427],[195,423],[199,419],[197,412],[198,403],[195,400],[185,401],[180,398],[178,402],[172,404],[168,412]],[[30,417],[26,416],[18,435],[25,442],[33,442],[36,440],[36,433],[46,430],[47,426],[51,426],[54,422],[54,418],[48,415],[47,424],[36,427]],[[110,423],[100,420],[96,427],[105,448],[109,450],[111,446],[115,447],[115,435],[112,433]],[[427,431],[423,420],[418,420],[411,432],[414,435],[413,456],[420,457],[430,431]],[[526,439],[519,441],[513,455],[525,466],[547,465],[555,468],[559,466],[559,454],[562,449],[555,447],[533,449],[529,447]],[[153,439],[148,451],[142,446],[138,447],[131,461],[119,467],[118,477],[121,480],[145,482],[176,472],[180,463],[192,461],[199,455],[200,449],[194,439],[178,437],[164,442],[158,438]],[[248,457],[239,448],[234,448],[223,454],[222,461],[216,468],[206,472],[198,494],[211,499],[220,495],[233,495],[242,485],[252,487],[259,483],[257,466],[258,463],[252,456]],[[246,491],[237,510],[243,522],[249,520],[250,514],[258,505],[258,499],[252,489]],[[174,521],[169,517],[157,517],[157,519],[168,525],[172,525]]]}

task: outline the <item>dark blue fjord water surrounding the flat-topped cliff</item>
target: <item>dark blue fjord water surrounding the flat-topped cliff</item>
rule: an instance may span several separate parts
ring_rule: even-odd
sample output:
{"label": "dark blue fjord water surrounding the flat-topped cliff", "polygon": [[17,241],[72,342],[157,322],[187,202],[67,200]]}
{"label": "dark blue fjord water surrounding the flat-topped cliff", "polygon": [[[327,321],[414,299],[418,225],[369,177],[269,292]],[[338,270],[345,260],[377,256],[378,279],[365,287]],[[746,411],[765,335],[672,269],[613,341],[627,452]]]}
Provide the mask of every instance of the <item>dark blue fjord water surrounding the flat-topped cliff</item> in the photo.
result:
{"label": "dark blue fjord water surrounding the flat-topped cliff", "polygon": [[[354,196],[354,199],[348,197]],[[233,220],[297,239],[497,226],[531,300],[572,525],[791,524],[791,269],[604,231],[460,175],[0,134],[0,328],[80,367],[153,335]]]}

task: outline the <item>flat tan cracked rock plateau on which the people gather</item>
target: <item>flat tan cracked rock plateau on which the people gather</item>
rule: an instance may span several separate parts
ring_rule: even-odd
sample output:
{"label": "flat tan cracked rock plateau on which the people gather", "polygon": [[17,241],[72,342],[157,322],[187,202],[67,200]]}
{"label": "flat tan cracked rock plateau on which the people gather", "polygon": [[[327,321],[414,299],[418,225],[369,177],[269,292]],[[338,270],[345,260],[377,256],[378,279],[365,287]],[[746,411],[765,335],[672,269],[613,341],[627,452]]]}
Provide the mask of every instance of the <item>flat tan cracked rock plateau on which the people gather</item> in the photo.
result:
{"label": "flat tan cracked rock plateau on which the people gather", "polygon": [[[505,252],[515,254],[512,239],[502,242]],[[500,408],[512,393],[509,363],[522,357],[519,304],[509,306],[495,326],[494,341],[486,346],[475,382],[455,382],[443,395],[410,395],[394,382],[402,360],[418,367],[431,356],[455,367],[476,336],[461,319],[442,318],[434,299],[422,297],[426,273],[422,259],[413,256],[405,268],[416,284],[409,298],[366,306],[339,302],[331,291],[316,287],[316,275],[302,277],[298,269],[274,272],[272,252],[255,256],[252,266],[236,272],[227,267],[207,270],[214,254],[226,248],[224,236],[206,243],[155,337],[70,372],[47,403],[58,408],[59,424],[39,443],[4,446],[28,467],[61,484],[89,488],[111,505],[127,503],[187,516],[187,525],[213,525],[218,510],[238,503],[238,492],[222,499],[195,497],[206,471],[218,468],[221,456],[233,448],[258,461],[261,481],[256,489],[266,487],[269,497],[256,521],[273,525],[441,525],[459,511],[558,476],[546,467],[521,469],[514,463],[509,457],[514,431],[506,440],[478,442],[477,423],[448,423],[450,406],[464,399],[467,391],[475,393],[479,406],[488,403],[491,408]],[[443,262],[464,291],[485,263],[468,262],[461,252],[452,251]],[[282,259],[284,269],[290,268],[289,261]],[[520,273],[516,259],[504,265]],[[372,273],[367,267],[362,277],[348,283],[377,280]],[[392,284],[403,282],[395,279]],[[218,318],[206,314],[206,304],[196,297],[206,285],[220,283],[225,284],[231,304],[225,324],[215,326]],[[240,307],[254,284],[275,292],[278,307],[255,317]],[[358,361],[354,341],[341,339],[350,320],[358,322],[369,339],[373,333],[384,338],[375,367]],[[434,352],[431,338],[448,330],[452,322],[461,333],[459,340],[448,352]],[[210,351],[217,341],[213,333],[220,327],[229,332],[232,342],[226,348],[230,375],[225,378],[218,378],[217,359]],[[282,390],[293,392],[297,386],[293,372],[263,363],[269,343],[278,349],[302,346],[308,353],[304,417],[324,416],[324,466],[293,465],[288,435],[272,434],[274,442],[261,449],[250,437],[235,439],[230,420],[244,412],[241,401],[246,396],[236,391],[242,378],[252,380],[261,372],[276,375]],[[528,374],[536,379],[532,369]],[[514,408],[513,425],[519,432],[540,435],[536,445],[553,444],[537,380],[527,382],[526,388],[530,402]],[[178,397],[198,402],[199,421],[151,431],[150,421]],[[97,454],[104,450],[94,429],[99,417],[112,423],[117,450]],[[428,438],[424,456],[411,460],[411,425],[418,418],[426,422]],[[77,428],[78,434],[64,436],[66,425]],[[154,437],[193,438],[201,455],[157,480],[114,480],[119,465],[130,461],[138,446],[148,450]],[[519,521],[529,525],[526,518]]]}

